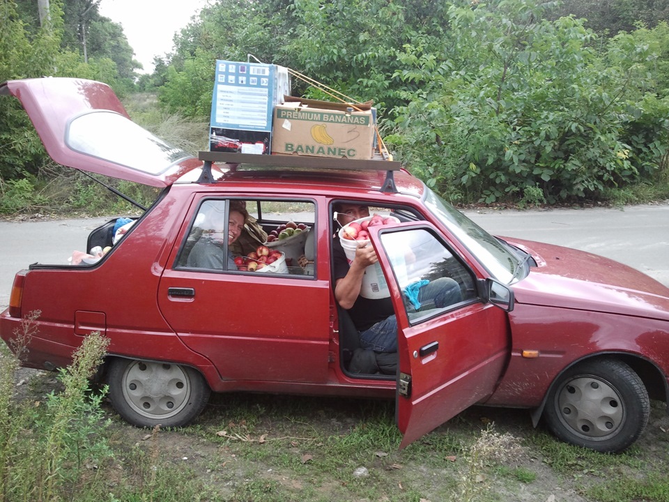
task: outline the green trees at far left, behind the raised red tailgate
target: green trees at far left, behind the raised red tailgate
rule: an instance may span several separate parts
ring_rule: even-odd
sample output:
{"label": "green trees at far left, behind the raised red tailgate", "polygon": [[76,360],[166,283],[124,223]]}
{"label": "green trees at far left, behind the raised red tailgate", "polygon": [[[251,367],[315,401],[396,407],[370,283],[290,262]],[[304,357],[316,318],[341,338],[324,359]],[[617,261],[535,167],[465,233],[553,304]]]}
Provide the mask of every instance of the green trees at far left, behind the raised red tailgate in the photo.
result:
{"label": "green trees at far left, behind the raised red tailgate", "polygon": [[[72,27],[72,17],[63,10],[71,13],[77,3],[90,7],[87,20],[94,20],[89,31],[88,63],[76,36],[79,28]],[[0,0],[0,82],[81,77],[106,82],[120,95],[132,89],[132,75],[139,63],[132,61],[132,50],[120,25],[97,14],[97,3],[99,0],[51,0],[49,21],[40,26],[35,1]],[[20,103],[0,99],[0,182],[35,176],[45,158]]]}

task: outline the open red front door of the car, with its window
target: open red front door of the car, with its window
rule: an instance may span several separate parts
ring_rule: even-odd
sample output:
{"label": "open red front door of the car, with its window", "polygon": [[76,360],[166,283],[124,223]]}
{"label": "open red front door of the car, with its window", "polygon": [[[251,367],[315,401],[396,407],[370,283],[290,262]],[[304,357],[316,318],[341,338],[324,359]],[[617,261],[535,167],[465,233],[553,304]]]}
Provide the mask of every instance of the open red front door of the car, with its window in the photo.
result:
{"label": "open red front door of the car, with its window", "polygon": [[[493,393],[509,358],[507,312],[482,298],[484,281],[429,223],[370,227],[369,234],[397,314],[403,448]],[[448,305],[421,298],[437,281],[459,288]]]}

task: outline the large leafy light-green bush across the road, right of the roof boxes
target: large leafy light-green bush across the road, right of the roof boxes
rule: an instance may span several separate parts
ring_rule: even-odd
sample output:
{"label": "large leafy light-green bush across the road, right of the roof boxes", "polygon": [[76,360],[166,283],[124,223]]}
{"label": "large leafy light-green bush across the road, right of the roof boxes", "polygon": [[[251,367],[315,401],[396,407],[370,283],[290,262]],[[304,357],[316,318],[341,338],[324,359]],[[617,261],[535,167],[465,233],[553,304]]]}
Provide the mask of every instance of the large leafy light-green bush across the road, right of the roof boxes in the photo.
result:
{"label": "large leafy light-green bush across the road, right of the roof boxes", "polygon": [[548,21],[539,7],[453,6],[452,73],[399,111],[393,139],[429,184],[459,187],[452,197],[493,202],[539,187],[552,202],[592,198],[652,176],[663,157],[653,107],[665,100],[647,94],[657,53],[621,34],[601,57],[582,22]]}

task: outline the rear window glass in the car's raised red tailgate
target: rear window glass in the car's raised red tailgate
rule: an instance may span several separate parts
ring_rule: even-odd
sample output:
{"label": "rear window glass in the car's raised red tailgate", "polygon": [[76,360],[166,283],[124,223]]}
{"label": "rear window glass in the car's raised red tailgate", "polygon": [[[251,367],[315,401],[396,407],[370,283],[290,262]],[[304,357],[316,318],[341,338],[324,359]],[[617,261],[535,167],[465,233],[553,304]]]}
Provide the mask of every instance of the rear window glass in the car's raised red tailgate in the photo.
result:
{"label": "rear window glass in the car's raised red tailgate", "polygon": [[66,143],[80,153],[154,175],[190,156],[116,112],[78,116],[68,126]]}

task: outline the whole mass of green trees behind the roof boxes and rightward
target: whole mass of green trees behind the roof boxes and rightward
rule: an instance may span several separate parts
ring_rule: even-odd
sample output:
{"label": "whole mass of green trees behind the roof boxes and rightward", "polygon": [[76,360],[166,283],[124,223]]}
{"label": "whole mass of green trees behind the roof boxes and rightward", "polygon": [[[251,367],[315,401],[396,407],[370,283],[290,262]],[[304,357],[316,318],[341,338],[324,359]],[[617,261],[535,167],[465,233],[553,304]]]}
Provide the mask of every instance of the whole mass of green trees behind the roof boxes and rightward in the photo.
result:
{"label": "whole mass of green trees behind the roof boxes and rightward", "polygon": [[220,0],[176,37],[160,98],[206,119],[215,59],[253,54],[373,99],[397,156],[454,200],[576,200],[652,181],[668,144],[666,23],[649,0],[562,5],[629,31],[602,37],[541,0]]}

